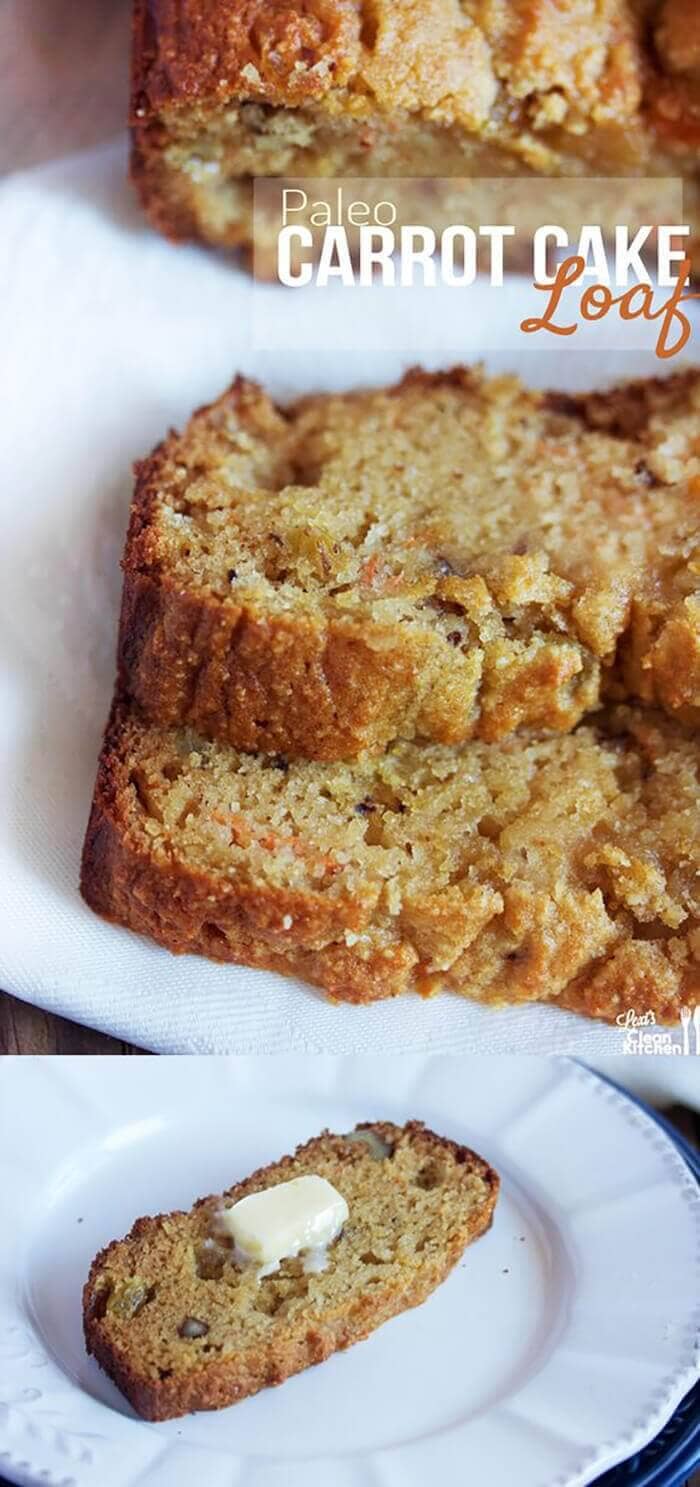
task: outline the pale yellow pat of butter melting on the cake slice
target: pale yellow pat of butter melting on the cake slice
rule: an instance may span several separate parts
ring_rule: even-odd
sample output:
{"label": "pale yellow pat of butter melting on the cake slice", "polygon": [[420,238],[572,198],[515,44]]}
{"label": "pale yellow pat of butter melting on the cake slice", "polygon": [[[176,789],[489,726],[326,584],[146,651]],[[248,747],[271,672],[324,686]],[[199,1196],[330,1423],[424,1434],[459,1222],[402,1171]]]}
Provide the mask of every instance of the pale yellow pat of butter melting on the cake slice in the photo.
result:
{"label": "pale yellow pat of butter melting on the cake slice", "polygon": [[327,1246],[348,1219],[348,1204],[325,1178],[293,1178],[251,1193],[220,1215],[245,1264],[276,1270],[279,1261],[309,1254],[323,1270]]}

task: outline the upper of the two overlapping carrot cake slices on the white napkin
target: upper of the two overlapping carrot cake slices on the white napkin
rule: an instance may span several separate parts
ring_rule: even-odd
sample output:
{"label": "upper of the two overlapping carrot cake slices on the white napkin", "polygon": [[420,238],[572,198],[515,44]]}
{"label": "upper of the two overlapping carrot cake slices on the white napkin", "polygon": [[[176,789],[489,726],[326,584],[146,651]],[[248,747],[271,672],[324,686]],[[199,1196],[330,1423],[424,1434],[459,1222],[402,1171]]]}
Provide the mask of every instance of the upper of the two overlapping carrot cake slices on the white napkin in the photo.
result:
{"label": "upper of the two overlapping carrot cake slices on the white napkin", "polygon": [[276,407],[238,379],[137,471],[120,688],[236,748],[700,718],[700,375],[479,370]]}

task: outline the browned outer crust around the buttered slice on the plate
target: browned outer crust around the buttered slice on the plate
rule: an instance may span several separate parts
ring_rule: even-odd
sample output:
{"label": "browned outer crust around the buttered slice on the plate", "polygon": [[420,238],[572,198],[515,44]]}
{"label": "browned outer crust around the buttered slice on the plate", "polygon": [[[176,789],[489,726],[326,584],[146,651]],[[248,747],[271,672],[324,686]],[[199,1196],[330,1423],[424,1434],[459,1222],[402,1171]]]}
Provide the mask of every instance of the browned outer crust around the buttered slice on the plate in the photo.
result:
{"label": "browned outer crust around the buttered slice on the plate", "polygon": [[[244,1399],[247,1395],[272,1384],[281,1384],[285,1378],[323,1362],[339,1349],[351,1347],[373,1332],[383,1322],[400,1312],[421,1306],[422,1301],[446,1279],[467,1245],[479,1239],[493,1218],[498,1199],[499,1178],[482,1157],[467,1146],[437,1136],[428,1130],[422,1121],[409,1121],[397,1127],[388,1121],[364,1121],[358,1130],[373,1132],[379,1141],[391,1148],[410,1146],[418,1161],[435,1160],[441,1154],[452,1158],[459,1181],[465,1184],[465,1201],[461,1222],[450,1233],[449,1242],[437,1257],[425,1258],[418,1267],[406,1270],[401,1286],[373,1286],[367,1291],[360,1304],[340,1307],[327,1317],[309,1320],[300,1316],[296,1325],[287,1329],[284,1338],[276,1338],[268,1346],[239,1347],[230,1358],[210,1358],[204,1367],[190,1373],[172,1373],[169,1377],[153,1377],[120,1335],[106,1322],[101,1313],[100,1280],[113,1262],[119,1262],[120,1251],[131,1242],[147,1239],[155,1230],[162,1228],[169,1219],[181,1215],[158,1215],[156,1218],[141,1218],[132,1225],[125,1240],[114,1240],[106,1246],[92,1261],[91,1271],[83,1289],[83,1329],[88,1352],[97,1359],[101,1368],[114,1380],[120,1392],[129,1399],[134,1408],[146,1420],[168,1420],[192,1410],[220,1410]],[[284,1181],[287,1172],[294,1170],[294,1163],[302,1158],[314,1166],[323,1154],[324,1160],[331,1160],[342,1172],[343,1164],[358,1160],[358,1148],[343,1138],[324,1133],[320,1138],[297,1148],[294,1157],[284,1157],[254,1172],[244,1182],[230,1188],[224,1199],[232,1203],[251,1191],[257,1191],[270,1181]],[[467,1200],[467,1182],[471,1184],[471,1194]],[[473,1190],[480,1185],[480,1200],[474,1201]],[[196,1209],[211,1206],[215,1199],[201,1199]],[[168,1370],[161,1373],[168,1374]]]}

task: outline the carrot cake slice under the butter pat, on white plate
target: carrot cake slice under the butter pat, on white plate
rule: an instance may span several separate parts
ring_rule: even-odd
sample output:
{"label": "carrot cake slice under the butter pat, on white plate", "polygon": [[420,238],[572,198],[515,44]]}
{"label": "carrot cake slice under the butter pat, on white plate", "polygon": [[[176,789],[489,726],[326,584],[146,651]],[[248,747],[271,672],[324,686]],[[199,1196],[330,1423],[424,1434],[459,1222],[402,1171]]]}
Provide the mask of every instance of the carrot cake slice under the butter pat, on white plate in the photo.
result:
{"label": "carrot cake slice under the butter pat, on white plate", "polygon": [[[327,1268],[239,1268],[221,1207],[305,1175],[327,1178],[349,1207]],[[489,1228],[498,1185],[480,1157],[419,1121],[325,1132],[103,1249],[83,1292],[88,1352],[149,1420],[235,1404],[425,1301]]]}

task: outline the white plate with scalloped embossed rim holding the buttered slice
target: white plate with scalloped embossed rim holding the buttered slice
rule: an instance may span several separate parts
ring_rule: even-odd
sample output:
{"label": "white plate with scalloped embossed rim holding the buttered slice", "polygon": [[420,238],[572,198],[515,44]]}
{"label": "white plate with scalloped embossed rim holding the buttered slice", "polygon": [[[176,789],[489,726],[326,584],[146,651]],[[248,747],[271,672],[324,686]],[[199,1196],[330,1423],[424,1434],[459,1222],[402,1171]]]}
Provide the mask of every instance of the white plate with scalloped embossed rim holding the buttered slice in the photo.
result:
{"label": "white plate with scalloped embossed rim holding the buttered slice", "polygon": [[[95,1251],[376,1117],[422,1118],[496,1166],[490,1233],[419,1310],[284,1387],[137,1420],[83,1350]],[[16,1483],[583,1487],[697,1377],[697,1187],[569,1060],[4,1060],[0,1126],[0,1472]]]}

